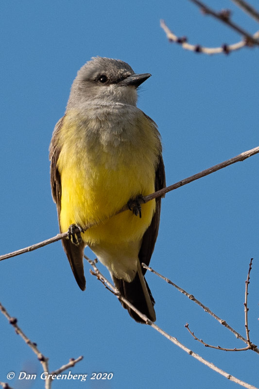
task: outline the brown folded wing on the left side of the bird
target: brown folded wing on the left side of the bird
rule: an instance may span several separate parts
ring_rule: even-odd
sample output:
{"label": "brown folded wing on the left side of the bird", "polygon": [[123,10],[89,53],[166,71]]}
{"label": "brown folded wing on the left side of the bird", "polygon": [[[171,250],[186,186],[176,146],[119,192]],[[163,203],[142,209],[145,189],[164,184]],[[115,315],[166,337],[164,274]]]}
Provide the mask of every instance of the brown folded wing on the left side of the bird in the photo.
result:
{"label": "brown folded wing on the left side of the bird", "polygon": [[[65,116],[61,118],[55,125],[52,141],[50,144],[50,160],[51,160],[51,188],[52,188],[52,197],[57,207],[58,221],[61,210],[61,177],[60,172],[58,171],[57,161],[60,154],[60,145],[58,144],[59,131],[62,128]],[[60,223],[59,223],[59,230]],[[86,279],[84,276],[84,248],[85,244],[82,242],[78,246],[75,246],[69,239],[62,239],[62,245],[67,254],[69,264],[71,266],[72,272],[78,283],[79,287],[82,290],[86,289]]]}

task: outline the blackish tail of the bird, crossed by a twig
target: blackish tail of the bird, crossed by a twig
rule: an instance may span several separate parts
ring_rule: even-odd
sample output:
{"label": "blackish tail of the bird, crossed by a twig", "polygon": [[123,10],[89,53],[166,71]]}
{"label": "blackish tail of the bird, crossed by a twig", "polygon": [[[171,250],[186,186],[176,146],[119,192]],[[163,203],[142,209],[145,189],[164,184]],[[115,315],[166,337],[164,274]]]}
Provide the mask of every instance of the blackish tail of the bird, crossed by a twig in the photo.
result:
{"label": "blackish tail of the bird, crossed by a twig", "polygon": [[[142,314],[146,315],[151,321],[155,321],[155,300],[151,294],[149,286],[142,273],[142,269],[138,260],[138,269],[134,280],[131,283],[120,280],[112,276],[113,281],[121,296],[132,303]],[[138,323],[145,323],[136,312],[121,302],[123,308],[126,308],[132,318]]]}

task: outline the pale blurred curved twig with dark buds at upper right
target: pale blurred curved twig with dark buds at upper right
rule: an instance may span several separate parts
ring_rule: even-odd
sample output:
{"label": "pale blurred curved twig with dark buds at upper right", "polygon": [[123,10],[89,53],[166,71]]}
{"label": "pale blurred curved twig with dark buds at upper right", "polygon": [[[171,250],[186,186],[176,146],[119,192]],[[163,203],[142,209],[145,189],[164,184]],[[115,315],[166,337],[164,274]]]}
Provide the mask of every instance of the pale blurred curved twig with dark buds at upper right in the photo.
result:
{"label": "pale blurred curved twig with dark buds at upper right", "polygon": [[[221,47],[205,47],[201,45],[192,45],[188,43],[188,38],[186,36],[177,36],[171,31],[164,20],[160,20],[160,26],[164,30],[167,39],[170,42],[178,43],[182,46],[183,49],[195,52],[195,53],[203,53],[203,54],[229,54],[230,52],[237,51],[247,46],[247,42],[245,40],[241,40],[240,42],[233,43],[231,45],[223,44]],[[259,38],[259,31],[256,32],[253,37],[255,39]]]}

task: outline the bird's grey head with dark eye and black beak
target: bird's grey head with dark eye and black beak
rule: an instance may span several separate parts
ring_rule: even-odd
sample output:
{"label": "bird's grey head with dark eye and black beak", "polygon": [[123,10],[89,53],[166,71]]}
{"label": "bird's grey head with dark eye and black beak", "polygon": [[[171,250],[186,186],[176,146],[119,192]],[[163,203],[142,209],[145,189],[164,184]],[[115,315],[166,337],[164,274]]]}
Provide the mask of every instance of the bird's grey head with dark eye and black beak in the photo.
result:
{"label": "bird's grey head with dark eye and black beak", "polygon": [[67,109],[109,102],[136,106],[137,88],[150,76],[135,74],[119,59],[93,57],[77,72]]}

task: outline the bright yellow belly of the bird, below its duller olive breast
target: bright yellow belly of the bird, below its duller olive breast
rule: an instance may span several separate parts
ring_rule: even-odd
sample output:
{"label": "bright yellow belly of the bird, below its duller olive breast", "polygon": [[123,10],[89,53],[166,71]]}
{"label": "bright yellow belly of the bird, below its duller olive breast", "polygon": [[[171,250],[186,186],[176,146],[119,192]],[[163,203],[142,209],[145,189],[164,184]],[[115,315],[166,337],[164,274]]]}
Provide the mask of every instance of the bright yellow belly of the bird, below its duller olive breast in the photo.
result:
{"label": "bright yellow belly of the bird, below its duller olive breast", "polygon": [[117,246],[120,241],[140,240],[151,223],[155,200],[142,204],[141,219],[132,211],[109,216],[129,199],[155,191],[154,165],[140,156],[136,156],[138,163],[125,163],[122,159],[112,167],[102,158],[98,163],[96,159],[94,163],[86,160],[85,154],[70,160],[67,158],[61,169],[61,230],[68,230],[73,223],[82,227],[97,223],[82,235],[86,244]]}

